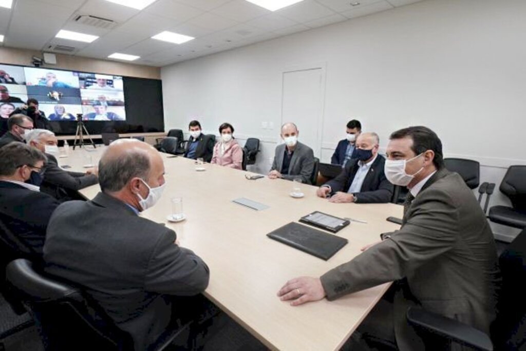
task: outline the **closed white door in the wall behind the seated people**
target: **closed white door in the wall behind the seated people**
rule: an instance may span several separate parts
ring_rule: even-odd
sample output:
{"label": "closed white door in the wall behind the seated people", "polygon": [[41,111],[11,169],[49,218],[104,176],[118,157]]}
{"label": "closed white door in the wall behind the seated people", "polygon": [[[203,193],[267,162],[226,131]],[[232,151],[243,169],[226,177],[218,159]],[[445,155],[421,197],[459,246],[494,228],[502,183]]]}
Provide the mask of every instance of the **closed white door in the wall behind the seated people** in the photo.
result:
{"label": "closed white door in the wall behind the seated people", "polygon": [[312,148],[318,158],[323,126],[322,78],[321,68],[284,72],[281,106],[281,123],[295,123],[298,140]]}

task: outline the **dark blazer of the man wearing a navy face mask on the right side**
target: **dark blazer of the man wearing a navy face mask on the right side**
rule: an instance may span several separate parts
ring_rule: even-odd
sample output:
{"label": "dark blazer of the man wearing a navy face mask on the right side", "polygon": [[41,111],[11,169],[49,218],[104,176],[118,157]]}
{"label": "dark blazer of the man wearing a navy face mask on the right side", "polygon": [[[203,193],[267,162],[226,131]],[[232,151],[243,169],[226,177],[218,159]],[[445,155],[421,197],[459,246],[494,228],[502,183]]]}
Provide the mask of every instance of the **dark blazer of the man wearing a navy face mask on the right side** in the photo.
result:
{"label": "dark blazer of the man wearing a navy face mask on the right side", "polygon": [[[386,174],[383,172],[383,166],[385,164],[386,160],[381,155],[378,155],[363,180],[360,192],[356,195],[358,198],[356,202],[382,203],[391,201],[393,184],[387,180]],[[358,160],[349,160],[341,173],[338,174],[335,179],[328,181],[324,185],[329,185],[333,193],[337,191],[349,191],[358,167]]]}

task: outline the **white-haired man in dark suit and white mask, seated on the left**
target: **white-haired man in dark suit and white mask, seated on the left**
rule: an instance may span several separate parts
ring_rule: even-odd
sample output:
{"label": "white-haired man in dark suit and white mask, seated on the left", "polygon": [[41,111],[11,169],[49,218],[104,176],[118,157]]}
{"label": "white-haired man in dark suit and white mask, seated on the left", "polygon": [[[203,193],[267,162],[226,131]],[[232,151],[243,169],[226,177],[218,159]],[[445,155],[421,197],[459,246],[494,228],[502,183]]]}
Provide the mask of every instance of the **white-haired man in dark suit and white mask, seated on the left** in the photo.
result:
{"label": "white-haired man in dark suit and white mask, seated on the left", "polygon": [[26,142],[47,156],[44,166],[44,179],[41,190],[60,201],[82,199],[78,190],[97,184],[97,171],[88,169],[86,173],[70,172],[58,167],[54,154],[58,154],[57,137],[46,129],[33,129],[27,132]]}

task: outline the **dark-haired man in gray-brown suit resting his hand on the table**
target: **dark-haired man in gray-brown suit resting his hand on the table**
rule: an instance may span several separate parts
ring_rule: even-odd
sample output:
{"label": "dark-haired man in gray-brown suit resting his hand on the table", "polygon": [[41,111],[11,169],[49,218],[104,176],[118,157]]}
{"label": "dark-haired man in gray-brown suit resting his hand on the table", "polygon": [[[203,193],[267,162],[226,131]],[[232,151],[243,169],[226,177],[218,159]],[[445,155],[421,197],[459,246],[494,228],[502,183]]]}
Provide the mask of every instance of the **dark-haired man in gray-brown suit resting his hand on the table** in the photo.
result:
{"label": "dark-haired man in gray-brown suit resting his hand on the table", "polygon": [[358,328],[362,335],[403,350],[424,349],[406,319],[414,304],[488,333],[500,272],[479,203],[462,178],[444,168],[442,143],[432,130],[409,127],[392,133],[387,156],[387,179],[410,190],[400,230],[382,234],[382,241],[321,277],[287,282],[278,296],[296,306],[398,281],[393,302],[380,301]]}

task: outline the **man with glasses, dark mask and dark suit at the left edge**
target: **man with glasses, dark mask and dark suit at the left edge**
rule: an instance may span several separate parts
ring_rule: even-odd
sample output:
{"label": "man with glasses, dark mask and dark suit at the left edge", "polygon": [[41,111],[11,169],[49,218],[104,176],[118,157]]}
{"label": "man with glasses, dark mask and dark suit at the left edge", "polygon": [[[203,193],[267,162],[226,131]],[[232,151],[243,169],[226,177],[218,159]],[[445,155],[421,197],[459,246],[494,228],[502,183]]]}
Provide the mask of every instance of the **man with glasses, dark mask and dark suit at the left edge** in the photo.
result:
{"label": "man with glasses, dark mask and dark suit at the left edge", "polygon": [[[41,259],[49,218],[59,202],[39,191],[46,156],[24,143],[0,148],[0,221],[20,253]],[[15,246],[15,245],[13,245]]]}

